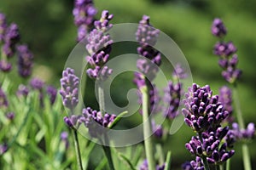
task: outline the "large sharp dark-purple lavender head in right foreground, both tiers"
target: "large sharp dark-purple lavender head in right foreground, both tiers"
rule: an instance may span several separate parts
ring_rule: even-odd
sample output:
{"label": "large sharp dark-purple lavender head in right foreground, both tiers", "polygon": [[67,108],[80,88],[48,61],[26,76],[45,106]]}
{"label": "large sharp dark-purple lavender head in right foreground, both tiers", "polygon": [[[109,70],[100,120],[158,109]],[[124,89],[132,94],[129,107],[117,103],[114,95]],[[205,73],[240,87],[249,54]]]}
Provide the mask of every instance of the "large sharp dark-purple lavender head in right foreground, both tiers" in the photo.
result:
{"label": "large sharp dark-purple lavender head in right foreground, both tiers", "polygon": [[220,124],[230,113],[224,111],[224,105],[218,102],[218,95],[212,95],[208,85],[200,88],[193,84],[185,97],[184,121],[197,133],[186,148],[191,154],[201,157],[205,169],[211,166],[219,168],[235,153],[235,150],[228,150],[224,141],[229,127],[221,127]]}

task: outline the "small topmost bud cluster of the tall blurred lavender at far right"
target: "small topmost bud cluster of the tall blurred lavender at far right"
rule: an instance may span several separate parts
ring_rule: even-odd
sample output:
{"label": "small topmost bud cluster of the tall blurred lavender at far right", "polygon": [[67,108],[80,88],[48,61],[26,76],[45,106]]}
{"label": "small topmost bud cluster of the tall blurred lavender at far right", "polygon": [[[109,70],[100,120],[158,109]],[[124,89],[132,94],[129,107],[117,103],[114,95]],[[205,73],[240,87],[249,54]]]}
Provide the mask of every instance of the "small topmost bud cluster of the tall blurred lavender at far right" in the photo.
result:
{"label": "small topmost bud cluster of the tall blurred lavender at far right", "polygon": [[212,22],[212,35],[216,37],[224,37],[226,33],[227,30],[223,21],[220,19],[214,19]]}

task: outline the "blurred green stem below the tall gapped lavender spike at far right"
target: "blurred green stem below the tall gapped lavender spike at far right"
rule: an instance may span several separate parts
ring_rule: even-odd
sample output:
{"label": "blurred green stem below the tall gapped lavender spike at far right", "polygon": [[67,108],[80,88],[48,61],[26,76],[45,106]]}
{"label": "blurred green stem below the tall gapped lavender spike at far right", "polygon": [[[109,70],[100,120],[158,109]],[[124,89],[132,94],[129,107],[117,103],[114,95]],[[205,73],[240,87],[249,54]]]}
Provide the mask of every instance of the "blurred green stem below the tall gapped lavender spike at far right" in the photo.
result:
{"label": "blurred green stem below the tall gapped lavender spike at far right", "polygon": [[[241,106],[240,106],[239,95],[238,95],[236,83],[234,84],[233,94],[234,94],[233,99],[234,99],[235,106],[236,106],[237,121],[238,121],[239,127],[244,129],[245,125],[244,125],[244,121],[243,121],[242,114],[241,114]],[[251,170],[252,167],[251,167],[250,154],[249,154],[247,144],[242,144],[241,150],[242,150],[243,167],[246,170]]]}

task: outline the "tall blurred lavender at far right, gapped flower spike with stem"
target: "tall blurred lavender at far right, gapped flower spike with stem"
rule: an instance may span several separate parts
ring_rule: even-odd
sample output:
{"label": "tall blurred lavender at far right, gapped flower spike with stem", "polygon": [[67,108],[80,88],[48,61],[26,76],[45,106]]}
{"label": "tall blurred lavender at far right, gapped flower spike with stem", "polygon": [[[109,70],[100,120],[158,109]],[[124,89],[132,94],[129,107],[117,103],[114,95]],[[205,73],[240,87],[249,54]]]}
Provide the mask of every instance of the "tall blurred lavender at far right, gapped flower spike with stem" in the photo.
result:
{"label": "tall blurred lavender at far right, gapped flower spike with stem", "polygon": [[[212,35],[223,39],[226,33],[227,31],[223,21],[220,19],[214,19],[212,23]],[[241,113],[240,101],[239,101],[238,92],[237,92],[237,79],[241,77],[241,70],[236,68],[238,64],[238,55],[236,54],[236,50],[237,49],[233,44],[233,42],[220,41],[215,44],[213,53],[219,56],[218,65],[220,65],[220,67],[224,70],[222,71],[222,76],[227,82],[230,82],[230,84],[233,85],[233,94],[235,99],[234,103],[236,105],[235,111],[237,114],[237,121],[242,129],[241,131],[244,131],[245,125],[244,125],[244,120]],[[226,90],[226,92],[223,92],[223,90]],[[231,92],[229,89],[222,88],[222,94],[223,93],[228,93],[228,97],[225,97],[228,99],[224,99],[224,97],[222,99],[225,100],[226,109],[231,111],[232,108],[230,106],[230,101],[229,101],[231,98],[230,97]],[[250,123],[249,125],[251,129],[251,133],[253,134],[254,124]],[[235,126],[235,127],[239,127],[239,126]],[[237,132],[236,128],[235,128],[235,131]],[[249,156],[247,144],[242,145],[242,155],[243,155],[244,168],[250,170],[251,163],[250,163],[250,156]]]}

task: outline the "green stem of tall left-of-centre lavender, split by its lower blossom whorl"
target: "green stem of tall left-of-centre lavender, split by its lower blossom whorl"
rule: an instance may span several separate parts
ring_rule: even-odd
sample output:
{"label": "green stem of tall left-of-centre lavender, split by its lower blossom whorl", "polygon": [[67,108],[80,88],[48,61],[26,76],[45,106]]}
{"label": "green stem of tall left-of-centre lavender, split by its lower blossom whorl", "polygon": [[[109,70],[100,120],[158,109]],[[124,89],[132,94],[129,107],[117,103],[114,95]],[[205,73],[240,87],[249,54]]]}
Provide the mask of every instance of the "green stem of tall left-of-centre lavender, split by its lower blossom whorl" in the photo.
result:
{"label": "green stem of tall left-of-centre lavender, split by its lower blossom whorl", "polygon": [[[103,115],[103,113],[105,111],[104,90],[100,84],[99,84],[99,88],[98,88],[98,94],[99,94],[100,111]],[[108,146],[108,136],[107,136],[107,134],[103,134],[103,135],[104,135],[104,143],[102,143],[102,148],[103,148],[104,153],[108,159],[108,166],[109,166],[110,170],[114,170],[113,160],[112,160],[112,156],[111,156],[111,150],[110,150],[110,147]]]}

